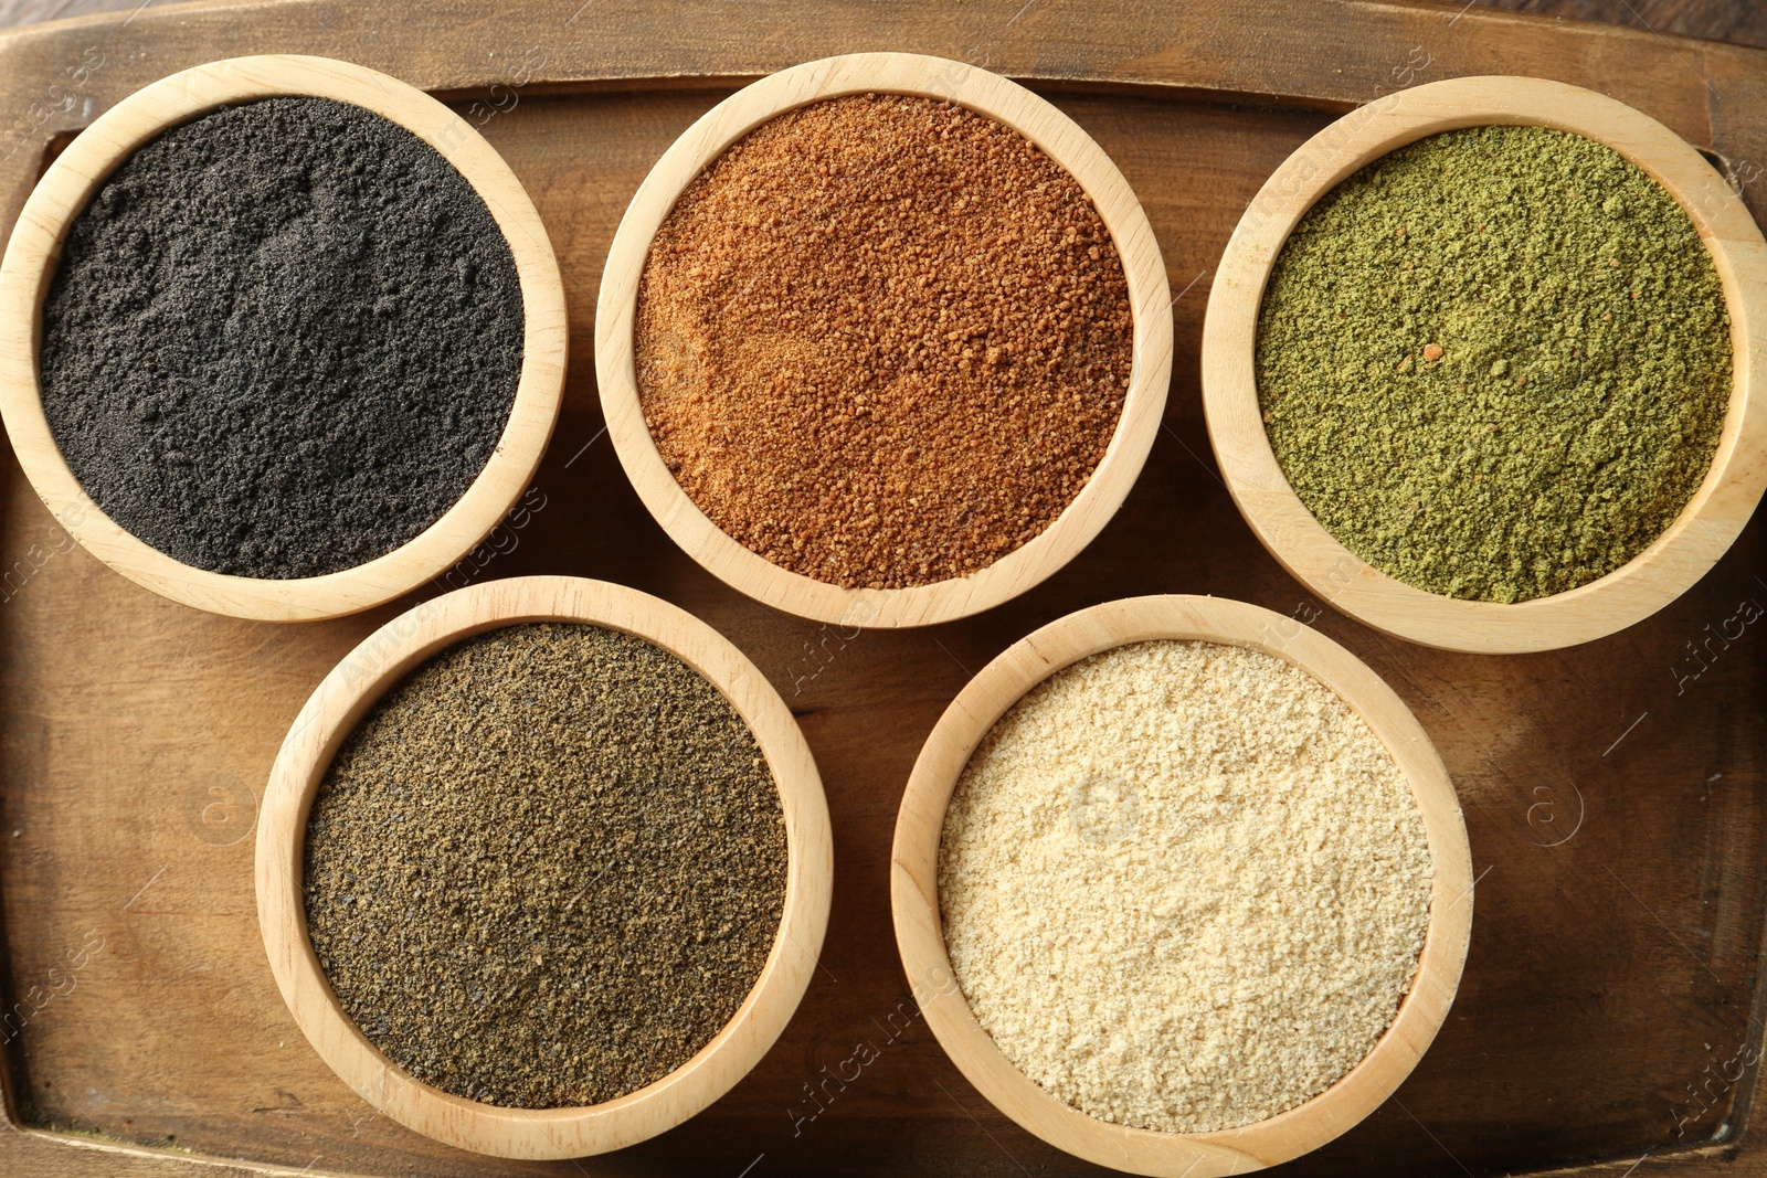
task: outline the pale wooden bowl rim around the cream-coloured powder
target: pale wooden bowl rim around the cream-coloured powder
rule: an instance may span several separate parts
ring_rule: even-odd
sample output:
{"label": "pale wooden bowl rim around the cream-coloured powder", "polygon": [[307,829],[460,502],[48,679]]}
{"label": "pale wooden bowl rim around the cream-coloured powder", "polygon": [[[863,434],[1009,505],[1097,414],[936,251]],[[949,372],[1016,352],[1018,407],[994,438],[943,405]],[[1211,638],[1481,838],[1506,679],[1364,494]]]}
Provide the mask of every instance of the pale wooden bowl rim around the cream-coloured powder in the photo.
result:
{"label": "pale wooden bowl rim around the cream-coloured powder", "polygon": [[[1435,880],[1417,977],[1387,1031],[1343,1079],[1306,1104],[1242,1129],[1166,1134],[1096,1120],[1025,1077],[970,1012],[938,915],[945,805],[970,754],[1018,699],[1062,668],[1126,643],[1177,638],[1249,646],[1331,687],[1387,747],[1422,812]],[[1405,703],[1355,655],[1279,613],[1219,597],[1134,597],[1051,622],[982,668],[938,719],[896,818],[891,910],[896,945],[926,1024],[958,1070],[1028,1132],[1088,1162],[1136,1174],[1209,1178],[1276,1166],[1375,1111],[1435,1038],[1460,985],[1472,934],[1472,851],[1447,770]]]}

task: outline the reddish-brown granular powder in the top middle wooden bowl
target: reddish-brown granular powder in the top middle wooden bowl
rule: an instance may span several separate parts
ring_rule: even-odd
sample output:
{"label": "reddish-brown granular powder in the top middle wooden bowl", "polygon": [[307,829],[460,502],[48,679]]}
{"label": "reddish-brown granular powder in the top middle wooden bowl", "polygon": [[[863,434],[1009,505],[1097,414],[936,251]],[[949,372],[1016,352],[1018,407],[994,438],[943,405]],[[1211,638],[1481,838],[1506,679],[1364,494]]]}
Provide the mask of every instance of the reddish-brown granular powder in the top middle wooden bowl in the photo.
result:
{"label": "reddish-brown granular powder in the top middle wooden bowl", "polygon": [[1074,500],[1133,328],[1104,221],[1035,145],[850,95],[751,131],[680,196],[638,288],[638,389],[740,544],[836,585],[929,585]]}

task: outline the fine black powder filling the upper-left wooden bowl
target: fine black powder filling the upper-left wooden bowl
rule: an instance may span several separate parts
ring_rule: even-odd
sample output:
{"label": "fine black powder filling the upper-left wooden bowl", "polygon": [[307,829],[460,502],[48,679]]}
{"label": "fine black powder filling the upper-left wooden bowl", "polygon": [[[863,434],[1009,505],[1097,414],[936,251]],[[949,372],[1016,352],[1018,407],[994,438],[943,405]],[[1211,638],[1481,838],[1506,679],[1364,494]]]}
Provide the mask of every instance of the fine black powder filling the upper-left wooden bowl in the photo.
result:
{"label": "fine black powder filling the upper-left wooden bowl", "polygon": [[330,99],[136,150],[42,307],[42,408],[106,516],[187,565],[306,578],[433,525],[491,457],[521,290],[479,194]]}

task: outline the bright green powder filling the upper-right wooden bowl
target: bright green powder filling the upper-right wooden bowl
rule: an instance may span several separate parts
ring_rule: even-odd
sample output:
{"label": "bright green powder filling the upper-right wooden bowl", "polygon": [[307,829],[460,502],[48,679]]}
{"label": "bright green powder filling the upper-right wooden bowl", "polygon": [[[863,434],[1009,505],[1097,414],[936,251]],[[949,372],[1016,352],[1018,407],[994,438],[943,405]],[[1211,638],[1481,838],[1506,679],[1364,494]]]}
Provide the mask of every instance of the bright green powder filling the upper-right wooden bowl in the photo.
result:
{"label": "bright green powder filling the upper-right wooden bowl", "polygon": [[1516,602],[1673,523],[1718,449],[1730,316],[1693,223],[1634,164],[1472,127],[1308,212],[1256,366],[1276,461],[1327,532],[1417,588]]}

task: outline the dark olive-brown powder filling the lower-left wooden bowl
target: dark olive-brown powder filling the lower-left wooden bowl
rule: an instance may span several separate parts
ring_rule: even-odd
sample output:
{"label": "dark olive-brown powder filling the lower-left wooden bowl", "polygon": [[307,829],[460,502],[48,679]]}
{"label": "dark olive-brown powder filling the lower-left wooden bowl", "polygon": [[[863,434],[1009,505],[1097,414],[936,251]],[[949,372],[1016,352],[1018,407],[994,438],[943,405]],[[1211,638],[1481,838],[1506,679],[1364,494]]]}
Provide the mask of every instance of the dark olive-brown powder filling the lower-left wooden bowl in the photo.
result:
{"label": "dark olive-brown powder filling the lower-left wooden bowl", "polygon": [[779,793],[735,708],[590,625],[421,666],[307,823],[307,931],[345,1012],[417,1079],[516,1107],[686,1063],[760,977],[785,878]]}

